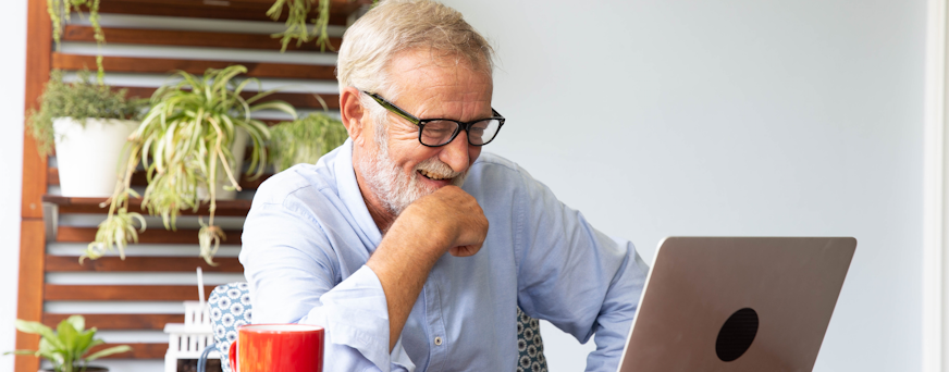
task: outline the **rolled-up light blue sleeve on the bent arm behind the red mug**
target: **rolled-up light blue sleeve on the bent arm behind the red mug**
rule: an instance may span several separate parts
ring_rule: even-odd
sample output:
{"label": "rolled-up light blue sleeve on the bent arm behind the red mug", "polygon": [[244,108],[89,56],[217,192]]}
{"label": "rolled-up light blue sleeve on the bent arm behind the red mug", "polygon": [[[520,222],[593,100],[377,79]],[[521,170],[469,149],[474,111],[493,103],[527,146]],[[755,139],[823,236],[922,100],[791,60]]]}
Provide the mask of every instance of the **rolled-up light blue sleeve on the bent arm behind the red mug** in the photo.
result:
{"label": "rolled-up light blue sleeve on the bent arm behind the red mug", "polygon": [[415,370],[400,340],[390,352],[379,277],[363,265],[341,280],[330,240],[305,207],[255,201],[242,240],[254,323],[322,326],[328,372]]}

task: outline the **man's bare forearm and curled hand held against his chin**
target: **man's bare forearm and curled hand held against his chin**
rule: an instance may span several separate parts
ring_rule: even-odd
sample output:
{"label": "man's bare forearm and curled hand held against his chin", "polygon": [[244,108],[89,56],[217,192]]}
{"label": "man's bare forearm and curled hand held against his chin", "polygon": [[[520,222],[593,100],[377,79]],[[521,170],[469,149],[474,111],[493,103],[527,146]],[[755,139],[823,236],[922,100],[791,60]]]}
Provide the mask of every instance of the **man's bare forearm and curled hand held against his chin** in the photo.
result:
{"label": "man's bare forearm and curled hand held against his chin", "polygon": [[385,293],[390,351],[435,262],[446,251],[457,257],[477,253],[486,235],[481,206],[456,186],[421,197],[399,214],[366,262]]}

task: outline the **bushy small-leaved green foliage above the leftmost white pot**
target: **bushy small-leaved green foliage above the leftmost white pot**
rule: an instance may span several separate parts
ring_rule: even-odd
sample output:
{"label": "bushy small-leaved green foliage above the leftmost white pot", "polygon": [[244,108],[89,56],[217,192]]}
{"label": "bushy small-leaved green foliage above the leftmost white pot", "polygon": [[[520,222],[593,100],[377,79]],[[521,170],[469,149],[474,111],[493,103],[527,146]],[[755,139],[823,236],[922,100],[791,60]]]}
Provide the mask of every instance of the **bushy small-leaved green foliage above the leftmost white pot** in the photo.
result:
{"label": "bushy small-leaved green foliage above the leftmost white pot", "polygon": [[147,101],[126,99],[125,89],[112,91],[106,85],[89,82],[89,72],[78,73],[78,79],[63,83],[63,73],[53,71],[39,97],[39,111],[30,110],[26,125],[36,139],[40,156],[52,152],[56,117],[73,117],[85,124],[87,119],[136,119]]}

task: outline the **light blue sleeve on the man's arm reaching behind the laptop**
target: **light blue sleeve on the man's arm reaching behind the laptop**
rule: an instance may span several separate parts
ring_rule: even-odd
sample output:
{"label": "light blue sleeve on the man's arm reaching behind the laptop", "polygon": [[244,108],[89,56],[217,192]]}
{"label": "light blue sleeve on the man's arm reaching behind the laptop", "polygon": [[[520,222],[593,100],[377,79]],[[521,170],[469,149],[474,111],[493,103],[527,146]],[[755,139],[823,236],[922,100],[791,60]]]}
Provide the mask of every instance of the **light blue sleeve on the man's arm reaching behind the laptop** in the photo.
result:
{"label": "light blue sleeve on the man's arm reaching behind the laptop", "polygon": [[526,177],[517,207],[518,303],[580,343],[595,334],[587,371],[616,371],[649,268],[632,243],[596,231]]}

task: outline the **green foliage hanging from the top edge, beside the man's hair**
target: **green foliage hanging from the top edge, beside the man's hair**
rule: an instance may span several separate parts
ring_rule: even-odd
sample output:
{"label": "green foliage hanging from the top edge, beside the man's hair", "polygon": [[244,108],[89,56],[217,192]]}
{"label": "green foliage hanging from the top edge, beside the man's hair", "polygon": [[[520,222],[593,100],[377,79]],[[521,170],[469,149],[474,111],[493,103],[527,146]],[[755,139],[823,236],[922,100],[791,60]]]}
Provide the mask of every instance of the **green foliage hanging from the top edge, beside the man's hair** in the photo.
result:
{"label": "green foliage hanging from the top edge, beside the man's hair", "polygon": [[279,34],[273,34],[273,37],[279,37],[283,47],[281,52],[286,50],[286,46],[291,40],[297,39],[297,47],[304,42],[310,41],[310,38],[317,37],[317,45],[320,46],[320,51],[325,51],[330,46],[330,36],[326,34],[326,27],[330,25],[330,0],[319,0],[319,15],[316,20],[310,20],[313,23],[312,32],[307,29],[307,15],[312,9],[315,0],[276,0],[273,5],[267,11],[267,15],[273,21],[280,18],[283,13],[283,7],[287,8],[286,30]]}

